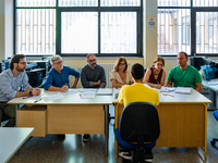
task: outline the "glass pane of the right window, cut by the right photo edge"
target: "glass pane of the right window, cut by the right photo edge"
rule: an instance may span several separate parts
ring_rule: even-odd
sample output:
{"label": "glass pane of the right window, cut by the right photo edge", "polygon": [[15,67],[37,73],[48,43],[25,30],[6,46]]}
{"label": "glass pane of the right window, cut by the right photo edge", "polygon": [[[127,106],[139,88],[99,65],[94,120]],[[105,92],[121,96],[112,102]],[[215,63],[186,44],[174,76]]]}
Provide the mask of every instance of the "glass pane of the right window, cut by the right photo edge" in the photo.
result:
{"label": "glass pane of the right window, cut by the right photo edge", "polygon": [[196,12],[196,53],[218,53],[218,12]]}

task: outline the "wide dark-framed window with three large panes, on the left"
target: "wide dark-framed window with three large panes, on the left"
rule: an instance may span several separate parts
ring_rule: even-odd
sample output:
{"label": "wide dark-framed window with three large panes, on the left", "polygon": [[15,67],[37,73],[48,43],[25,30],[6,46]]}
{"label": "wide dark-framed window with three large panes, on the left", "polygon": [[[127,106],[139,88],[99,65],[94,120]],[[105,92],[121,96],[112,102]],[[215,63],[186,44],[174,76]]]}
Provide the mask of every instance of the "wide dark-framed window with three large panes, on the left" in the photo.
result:
{"label": "wide dark-framed window with three large panes, on the left", "polygon": [[15,0],[15,53],[142,57],[143,0]]}

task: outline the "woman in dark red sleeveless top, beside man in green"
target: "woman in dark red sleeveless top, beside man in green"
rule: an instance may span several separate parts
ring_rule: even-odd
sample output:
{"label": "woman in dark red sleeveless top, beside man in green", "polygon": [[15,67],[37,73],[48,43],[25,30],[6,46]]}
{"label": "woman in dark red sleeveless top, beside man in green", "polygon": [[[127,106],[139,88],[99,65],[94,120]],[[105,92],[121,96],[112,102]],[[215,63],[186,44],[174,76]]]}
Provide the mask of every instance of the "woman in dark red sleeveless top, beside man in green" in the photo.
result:
{"label": "woman in dark red sleeveless top, beside man in green", "polygon": [[161,88],[165,85],[166,72],[162,68],[165,66],[165,59],[157,57],[154,61],[154,65],[148,67],[145,74],[144,82],[150,87]]}

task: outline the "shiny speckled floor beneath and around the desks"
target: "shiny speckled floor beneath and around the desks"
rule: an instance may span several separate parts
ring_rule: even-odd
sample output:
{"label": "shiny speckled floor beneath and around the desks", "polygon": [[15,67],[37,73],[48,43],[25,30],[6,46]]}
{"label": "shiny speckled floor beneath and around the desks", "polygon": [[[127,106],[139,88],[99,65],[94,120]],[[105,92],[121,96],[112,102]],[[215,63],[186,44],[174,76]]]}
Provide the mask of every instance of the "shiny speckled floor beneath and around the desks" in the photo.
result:
{"label": "shiny speckled floor beneath and around the desks", "polygon": [[[204,160],[201,148],[155,148],[153,163],[218,163],[218,142],[216,147],[211,147],[209,142],[213,137],[218,137],[218,122],[214,118],[213,111],[208,111],[207,124],[207,160]],[[108,158],[105,158],[104,141],[101,135],[92,135],[90,141],[86,143],[83,142],[82,135],[66,135],[64,139],[57,135],[33,137],[9,163],[121,163],[121,158],[114,156],[113,120],[109,125]]]}

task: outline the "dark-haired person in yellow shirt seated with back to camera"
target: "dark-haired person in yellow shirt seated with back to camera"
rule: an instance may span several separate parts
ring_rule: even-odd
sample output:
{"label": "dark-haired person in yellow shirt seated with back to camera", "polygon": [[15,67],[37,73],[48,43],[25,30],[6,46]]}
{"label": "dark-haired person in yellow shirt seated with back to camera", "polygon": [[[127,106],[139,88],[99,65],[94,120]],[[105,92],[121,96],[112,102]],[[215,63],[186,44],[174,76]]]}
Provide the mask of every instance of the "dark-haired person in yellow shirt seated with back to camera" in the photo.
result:
{"label": "dark-haired person in yellow shirt seated with back to camera", "polygon": [[[123,104],[124,106],[131,102],[149,102],[154,105],[159,104],[158,90],[148,88],[143,84],[144,75],[145,73],[142,64],[136,63],[132,66],[131,76],[134,84],[122,86],[118,97],[120,104]],[[123,149],[119,155],[125,160],[132,160],[132,153],[128,149]],[[146,150],[145,161],[153,161],[152,149]]]}

